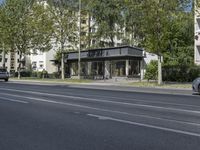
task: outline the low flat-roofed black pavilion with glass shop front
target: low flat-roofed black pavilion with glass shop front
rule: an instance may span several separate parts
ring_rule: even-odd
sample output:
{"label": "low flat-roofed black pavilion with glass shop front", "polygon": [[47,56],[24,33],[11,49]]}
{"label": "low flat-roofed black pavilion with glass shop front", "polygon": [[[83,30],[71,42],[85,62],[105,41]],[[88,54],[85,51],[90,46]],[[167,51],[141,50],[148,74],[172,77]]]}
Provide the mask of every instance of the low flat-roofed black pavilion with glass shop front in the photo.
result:
{"label": "low flat-roofed black pavilion with glass shop front", "polygon": [[[143,78],[143,50],[124,46],[81,51],[81,77],[85,79]],[[66,55],[67,74],[78,76],[78,52]]]}

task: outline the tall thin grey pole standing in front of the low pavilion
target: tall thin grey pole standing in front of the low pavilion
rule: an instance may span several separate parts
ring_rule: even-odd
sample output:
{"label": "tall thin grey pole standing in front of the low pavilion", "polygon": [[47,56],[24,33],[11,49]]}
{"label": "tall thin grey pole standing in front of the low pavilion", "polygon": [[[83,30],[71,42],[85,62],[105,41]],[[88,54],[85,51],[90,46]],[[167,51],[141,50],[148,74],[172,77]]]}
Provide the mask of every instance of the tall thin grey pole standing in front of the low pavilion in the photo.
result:
{"label": "tall thin grey pole standing in front of the low pavilion", "polygon": [[78,79],[81,79],[81,0],[79,0]]}

